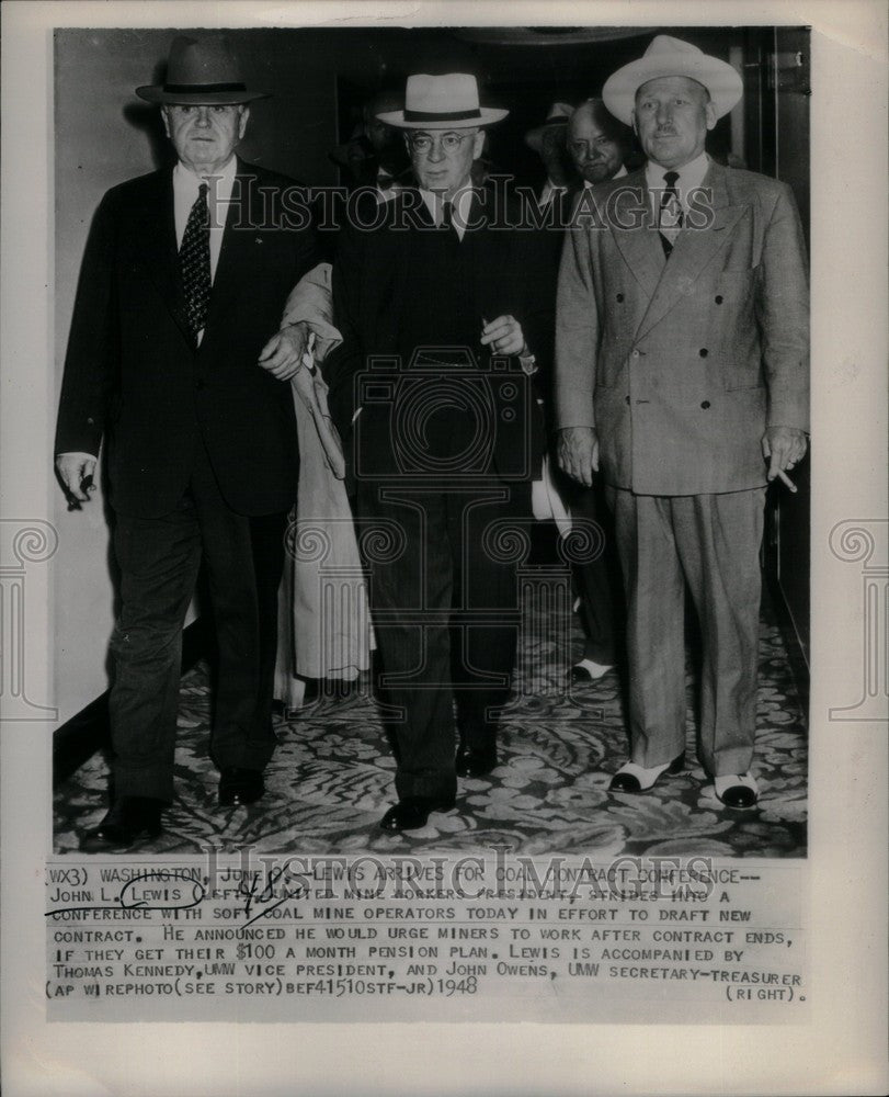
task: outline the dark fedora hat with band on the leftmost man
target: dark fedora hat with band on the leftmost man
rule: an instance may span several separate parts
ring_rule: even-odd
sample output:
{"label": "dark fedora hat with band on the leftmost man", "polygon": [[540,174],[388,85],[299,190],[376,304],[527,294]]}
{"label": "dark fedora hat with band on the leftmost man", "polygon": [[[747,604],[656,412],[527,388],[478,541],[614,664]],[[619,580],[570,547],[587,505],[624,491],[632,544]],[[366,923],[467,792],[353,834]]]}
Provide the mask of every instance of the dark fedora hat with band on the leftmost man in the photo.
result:
{"label": "dark fedora hat with band on the leftmost man", "polygon": [[164,83],[137,88],[136,94],[149,103],[181,106],[227,106],[269,98],[265,91],[248,91],[231,46],[221,35],[173,38]]}

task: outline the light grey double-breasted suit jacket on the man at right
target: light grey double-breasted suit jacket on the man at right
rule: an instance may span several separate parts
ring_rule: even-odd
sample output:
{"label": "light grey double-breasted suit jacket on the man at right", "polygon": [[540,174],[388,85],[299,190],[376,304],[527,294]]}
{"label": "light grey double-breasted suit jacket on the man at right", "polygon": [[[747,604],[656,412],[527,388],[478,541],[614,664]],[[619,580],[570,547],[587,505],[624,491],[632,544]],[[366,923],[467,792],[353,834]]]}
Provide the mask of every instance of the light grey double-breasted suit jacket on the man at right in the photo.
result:
{"label": "light grey double-breasted suit jacket on the man at right", "polygon": [[559,276],[557,426],[595,426],[605,480],[639,495],[764,485],[766,427],[808,429],[789,188],[711,162],[669,262],[643,170],[586,195]]}

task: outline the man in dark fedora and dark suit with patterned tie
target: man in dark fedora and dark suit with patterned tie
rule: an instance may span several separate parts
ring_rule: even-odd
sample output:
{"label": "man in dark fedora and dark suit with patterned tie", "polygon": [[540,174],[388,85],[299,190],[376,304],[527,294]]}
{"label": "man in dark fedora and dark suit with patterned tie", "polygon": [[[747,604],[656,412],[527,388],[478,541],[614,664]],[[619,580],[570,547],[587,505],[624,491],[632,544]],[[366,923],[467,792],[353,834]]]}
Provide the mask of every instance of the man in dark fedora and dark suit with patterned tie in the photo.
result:
{"label": "man in dark fedora and dark suit with patterned tie", "polygon": [[[289,386],[260,369],[315,261],[290,227],[293,180],[235,155],[262,97],[218,36],[176,38],[159,104],[176,154],[95,214],[65,362],[56,467],[70,506],[107,455],[119,614],[111,642],[111,810],[91,851],[156,837],[173,794],[182,626],[206,567],[219,666],[210,753],[219,804],[252,803],[271,726],[283,531],[295,497]],[[271,351],[269,351],[271,352]]]}

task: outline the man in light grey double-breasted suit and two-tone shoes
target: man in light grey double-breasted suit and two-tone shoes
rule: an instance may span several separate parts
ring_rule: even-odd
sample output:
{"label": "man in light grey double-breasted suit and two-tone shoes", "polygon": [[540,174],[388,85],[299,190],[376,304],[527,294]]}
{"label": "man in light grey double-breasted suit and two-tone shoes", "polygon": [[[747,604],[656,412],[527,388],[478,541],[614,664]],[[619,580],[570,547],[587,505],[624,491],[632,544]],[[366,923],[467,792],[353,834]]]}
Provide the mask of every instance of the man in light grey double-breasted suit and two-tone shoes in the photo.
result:
{"label": "man in light grey double-breasted suit and two-tone shoes", "polygon": [[720,167],[707,132],[738,73],[668,36],[603,99],[648,162],[596,188],[566,241],[557,315],[560,461],[601,473],[628,599],[630,760],[612,791],[679,772],[686,586],[700,622],[700,761],[727,806],[753,759],[764,494],[806,453],[808,287],[784,183]]}

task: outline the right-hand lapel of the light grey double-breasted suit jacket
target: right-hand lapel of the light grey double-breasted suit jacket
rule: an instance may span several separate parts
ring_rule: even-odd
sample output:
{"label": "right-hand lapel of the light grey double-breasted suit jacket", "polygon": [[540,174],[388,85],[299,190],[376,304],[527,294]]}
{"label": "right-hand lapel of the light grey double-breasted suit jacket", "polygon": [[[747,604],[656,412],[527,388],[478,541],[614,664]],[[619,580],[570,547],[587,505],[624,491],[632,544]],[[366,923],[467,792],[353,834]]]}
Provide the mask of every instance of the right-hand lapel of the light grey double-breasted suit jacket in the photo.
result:
{"label": "right-hand lapel of the light grey double-breasted suit jacket", "polygon": [[[713,191],[713,220],[706,228],[688,227],[680,233],[670,261],[663,268],[663,274],[658,282],[654,295],[649,303],[642,323],[639,325],[637,339],[647,335],[691,291],[695,281],[717,252],[728,244],[731,238],[731,229],[746,210],[745,204],[730,204],[725,169],[720,168],[719,165],[710,165],[703,185]],[[660,247],[657,229],[636,235],[650,236]]]}

